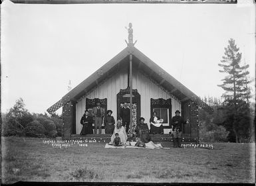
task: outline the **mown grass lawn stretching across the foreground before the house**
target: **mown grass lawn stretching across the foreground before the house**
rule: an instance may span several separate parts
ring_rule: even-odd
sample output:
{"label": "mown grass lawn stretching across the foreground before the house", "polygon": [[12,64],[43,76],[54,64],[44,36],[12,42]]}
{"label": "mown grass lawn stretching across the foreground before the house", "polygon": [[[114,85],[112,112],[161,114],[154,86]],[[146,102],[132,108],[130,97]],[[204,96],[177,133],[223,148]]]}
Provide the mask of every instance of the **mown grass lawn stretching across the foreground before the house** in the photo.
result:
{"label": "mown grass lawn stretching across the foreground before the house", "polygon": [[[255,144],[213,149],[53,148],[39,138],[1,138],[3,183],[16,181],[255,183]],[[168,142],[163,144],[168,146]]]}

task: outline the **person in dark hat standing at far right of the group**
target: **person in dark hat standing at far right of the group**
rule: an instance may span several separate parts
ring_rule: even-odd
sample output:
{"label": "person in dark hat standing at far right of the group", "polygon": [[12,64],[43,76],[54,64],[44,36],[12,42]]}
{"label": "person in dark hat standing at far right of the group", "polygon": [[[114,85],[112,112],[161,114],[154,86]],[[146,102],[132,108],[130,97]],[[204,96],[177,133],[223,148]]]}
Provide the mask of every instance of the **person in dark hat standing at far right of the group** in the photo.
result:
{"label": "person in dark hat standing at far right of the group", "polygon": [[176,116],[172,117],[172,131],[174,134],[174,147],[179,147],[181,148],[181,143],[182,143],[182,124],[188,124],[188,120],[184,121],[182,116],[180,116],[180,111],[177,110],[175,112]]}

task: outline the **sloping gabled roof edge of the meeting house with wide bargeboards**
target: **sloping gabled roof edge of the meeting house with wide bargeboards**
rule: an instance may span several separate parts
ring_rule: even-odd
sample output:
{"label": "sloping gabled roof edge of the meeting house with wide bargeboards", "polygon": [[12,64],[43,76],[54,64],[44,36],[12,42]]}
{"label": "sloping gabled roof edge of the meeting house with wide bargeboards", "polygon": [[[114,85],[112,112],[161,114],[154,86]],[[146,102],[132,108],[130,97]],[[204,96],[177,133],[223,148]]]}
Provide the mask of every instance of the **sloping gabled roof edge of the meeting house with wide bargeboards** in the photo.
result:
{"label": "sloping gabled roof edge of the meeting house with wide bargeboards", "polygon": [[74,87],[71,91],[69,91],[64,97],[57,101],[53,106],[47,109],[48,113],[54,113],[59,108],[63,107],[68,101],[77,101],[88,93],[93,87],[97,86],[104,79],[108,79],[114,71],[118,71],[120,66],[125,62],[129,61],[129,54],[132,54],[132,65],[134,68],[138,68],[138,70],[142,71],[142,73],[146,74],[148,78],[154,79],[154,81],[164,87],[166,91],[170,94],[174,95],[180,101],[192,100],[197,103],[199,107],[204,109],[205,111],[212,113],[213,109],[209,107],[206,103],[201,101],[201,99],[195,95],[190,89],[182,85],[178,80],[176,80],[172,75],[167,73],[165,70],[160,68],[157,64],[152,62],[150,58],[145,56],[140,50],[135,48],[134,46],[128,46],[124,48],[119,54],[114,56],[109,62],[104,64],[101,68],[96,70],[92,75],[86,78],[82,83]]}

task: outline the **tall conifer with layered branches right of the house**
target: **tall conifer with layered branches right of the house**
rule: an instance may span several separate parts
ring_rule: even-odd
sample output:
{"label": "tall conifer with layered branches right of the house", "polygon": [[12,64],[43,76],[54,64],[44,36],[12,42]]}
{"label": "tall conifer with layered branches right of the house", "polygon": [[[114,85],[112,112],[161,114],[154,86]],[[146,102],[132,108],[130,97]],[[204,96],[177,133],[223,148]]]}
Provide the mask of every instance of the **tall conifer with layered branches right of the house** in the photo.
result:
{"label": "tall conifer with layered branches right of the house", "polygon": [[[249,74],[247,68],[249,65],[241,65],[241,53],[232,38],[229,40],[229,45],[225,48],[224,56],[221,64],[218,64],[223,70],[221,73],[226,73],[222,85],[218,85],[225,90],[223,93],[225,105],[225,126],[229,126],[235,133],[235,141],[241,142],[241,136],[247,136],[249,130],[249,122],[247,120],[249,113],[250,91],[246,75]],[[243,130],[242,130],[243,129]]]}

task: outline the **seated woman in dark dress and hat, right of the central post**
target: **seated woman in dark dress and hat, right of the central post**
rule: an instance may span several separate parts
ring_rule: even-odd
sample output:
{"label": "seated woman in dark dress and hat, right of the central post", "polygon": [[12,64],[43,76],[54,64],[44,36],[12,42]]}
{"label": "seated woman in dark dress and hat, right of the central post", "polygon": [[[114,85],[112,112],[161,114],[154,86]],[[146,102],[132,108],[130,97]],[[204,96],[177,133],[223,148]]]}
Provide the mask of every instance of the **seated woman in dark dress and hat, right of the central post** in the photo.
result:
{"label": "seated woman in dark dress and hat, right of the central post", "polygon": [[148,124],[144,123],[144,118],[140,118],[140,123],[137,124],[135,132],[138,138],[144,143],[150,142],[150,130],[148,129]]}

